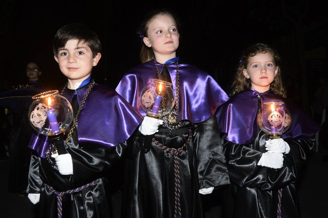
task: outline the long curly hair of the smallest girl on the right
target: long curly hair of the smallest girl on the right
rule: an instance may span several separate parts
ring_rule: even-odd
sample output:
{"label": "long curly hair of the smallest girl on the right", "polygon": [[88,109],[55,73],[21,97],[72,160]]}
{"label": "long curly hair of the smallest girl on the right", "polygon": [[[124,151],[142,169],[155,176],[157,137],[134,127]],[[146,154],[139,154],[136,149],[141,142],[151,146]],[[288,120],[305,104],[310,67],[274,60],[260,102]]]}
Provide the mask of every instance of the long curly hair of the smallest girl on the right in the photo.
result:
{"label": "long curly hair of the smallest girl on the right", "polygon": [[275,65],[278,67],[277,75],[275,76],[274,80],[270,84],[270,89],[276,94],[286,97],[286,91],[282,85],[282,79],[281,79],[280,57],[277,54],[276,50],[263,43],[257,43],[255,45],[252,45],[243,53],[235,74],[234,82],[232,84],[232,89],[233,89],[232,95],[235,95],[238,92],[241,92],[251,87],[251,80],[247,79],[244,76],[243,70],[247,69],[247,64],[252,57],[256,56],[257,54],[260,53],[264,54],[267,52],[272,55]]}

